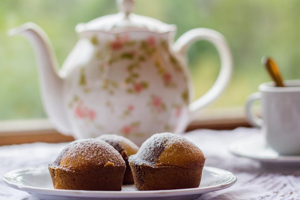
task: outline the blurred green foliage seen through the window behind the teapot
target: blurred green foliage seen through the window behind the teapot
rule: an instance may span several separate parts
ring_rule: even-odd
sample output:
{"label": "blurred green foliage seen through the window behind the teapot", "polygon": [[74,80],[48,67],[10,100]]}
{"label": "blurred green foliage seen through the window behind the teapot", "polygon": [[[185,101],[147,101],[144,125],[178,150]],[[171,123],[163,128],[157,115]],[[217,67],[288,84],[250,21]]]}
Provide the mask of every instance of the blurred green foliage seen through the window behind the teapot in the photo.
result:
{"label": "blurred green foliage seen through the window behind the teapot", "polygon": [[[242,107],[257,86],[269,81],[260,60],[275,58],[285,79],[300,78],[300,1],[298,0],[136,0],[135,13],[178,26],[176,38],[197,27],[222,33],[234,58],[233,79],[210,109]],[[49,35],[61,65],[77,41],[74,27],[116,13],[113,0],[0,1],[0,120],[45,117],[37,67],[29,42],[6,30],[27,21]],[[196,97],[217,77],[219,58],[205,41],[188,54]]]}

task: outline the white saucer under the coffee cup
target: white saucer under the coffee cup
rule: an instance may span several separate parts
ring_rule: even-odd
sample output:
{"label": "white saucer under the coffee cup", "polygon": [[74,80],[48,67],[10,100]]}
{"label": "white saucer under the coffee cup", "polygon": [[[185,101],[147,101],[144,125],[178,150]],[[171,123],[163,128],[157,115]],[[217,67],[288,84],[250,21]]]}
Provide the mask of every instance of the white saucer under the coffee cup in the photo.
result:
{"label": "white saucer under the coffee cup", "polygon": [[300,164],[300,156],[280,156],[268,147],[263,134],[236,141],[230,145],[229,151],[236,156],[250,158],[261,163]]}

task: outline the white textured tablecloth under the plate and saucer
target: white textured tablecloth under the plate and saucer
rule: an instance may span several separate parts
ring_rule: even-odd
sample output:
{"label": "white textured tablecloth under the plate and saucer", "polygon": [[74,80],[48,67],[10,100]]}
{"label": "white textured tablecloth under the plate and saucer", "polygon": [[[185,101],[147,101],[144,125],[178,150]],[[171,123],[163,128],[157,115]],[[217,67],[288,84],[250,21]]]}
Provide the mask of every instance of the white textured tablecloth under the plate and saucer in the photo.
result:
{"label": "white textured tablecloth under the plate and saucer", "polygon": [[[206,166],[233,172],[238,181],[225,190],[208,193],[198,199],[300,199],[300,169],[265,169],[259,163],[235,157],[228,145],[254,134],[257,129],[237,128],[232,131],[195,130],[185,136],[198,145],[205,156]],[[33,143],[0,147],[0,177],[13,169],[52,163],[66,143]],[[0,199],[36,200],[28,193],[12,189],[0,181]]]}

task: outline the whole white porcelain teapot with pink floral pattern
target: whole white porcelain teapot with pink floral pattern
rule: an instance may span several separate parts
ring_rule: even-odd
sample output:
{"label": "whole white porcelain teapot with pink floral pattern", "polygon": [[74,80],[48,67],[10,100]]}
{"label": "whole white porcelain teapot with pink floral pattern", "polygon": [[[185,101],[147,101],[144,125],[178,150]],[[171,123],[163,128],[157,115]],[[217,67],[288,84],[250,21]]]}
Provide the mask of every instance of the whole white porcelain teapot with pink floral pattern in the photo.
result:
{"label": "whole white porcelain teapot with pink floral pattern", "polygon": [[[26,36],[34,47],[48,117],[75,139],[114,133],[140,145],[155,133],[183,132],[229,82],[232,56],[223,35],[196,28],[174,43],[176,25],[132,13],[133,0],[117,3],[119,13],[76,26],[79,40],[60,70],[38,25],[8,31]],[[191,102],[186,52],[197,40],[214,44],[221,67],[212,88]]]}

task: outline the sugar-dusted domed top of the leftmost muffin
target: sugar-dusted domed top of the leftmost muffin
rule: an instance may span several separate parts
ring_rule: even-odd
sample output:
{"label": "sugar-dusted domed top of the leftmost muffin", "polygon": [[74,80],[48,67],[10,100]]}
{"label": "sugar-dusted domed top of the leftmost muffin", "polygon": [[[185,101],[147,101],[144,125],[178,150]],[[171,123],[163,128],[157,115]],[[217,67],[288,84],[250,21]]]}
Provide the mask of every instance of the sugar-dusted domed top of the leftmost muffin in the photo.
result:
{"label": "sugar-dusted domed top of the leftmost muffin", "polygon": [[68,144],[52,165],[70,170],[86,170],[104,167],[108,162],[125,166],[121,155],[111,145],[99,139],[80,139]]}

